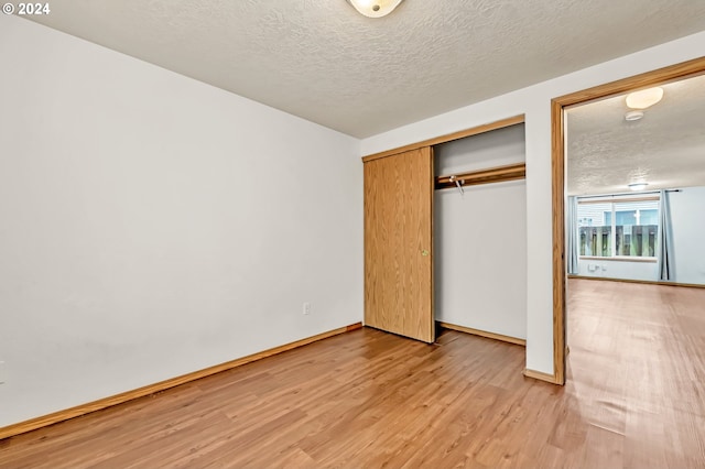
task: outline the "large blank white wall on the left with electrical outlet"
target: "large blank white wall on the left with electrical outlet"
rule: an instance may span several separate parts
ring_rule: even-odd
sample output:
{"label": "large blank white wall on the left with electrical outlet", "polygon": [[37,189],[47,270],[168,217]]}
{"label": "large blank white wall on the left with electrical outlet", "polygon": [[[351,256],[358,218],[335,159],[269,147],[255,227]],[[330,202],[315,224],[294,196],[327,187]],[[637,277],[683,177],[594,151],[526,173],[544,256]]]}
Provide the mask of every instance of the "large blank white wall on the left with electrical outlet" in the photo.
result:
{"label": "large blank white wall on the left with electrical outlet", "polygon": [[361,320],[358,140],[17,17],[0,64],[0,426]]}

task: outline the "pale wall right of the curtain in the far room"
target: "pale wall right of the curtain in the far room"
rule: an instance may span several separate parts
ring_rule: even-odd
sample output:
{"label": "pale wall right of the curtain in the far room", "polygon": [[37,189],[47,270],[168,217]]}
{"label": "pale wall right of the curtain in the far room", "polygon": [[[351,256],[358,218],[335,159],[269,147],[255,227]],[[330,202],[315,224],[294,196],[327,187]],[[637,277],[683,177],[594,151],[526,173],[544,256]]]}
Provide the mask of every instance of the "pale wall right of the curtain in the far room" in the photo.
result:
{"label": "pale wall right of the curtain in the far room", "polygon": [[705,284],[705,187],[669,193],[674,282]]}

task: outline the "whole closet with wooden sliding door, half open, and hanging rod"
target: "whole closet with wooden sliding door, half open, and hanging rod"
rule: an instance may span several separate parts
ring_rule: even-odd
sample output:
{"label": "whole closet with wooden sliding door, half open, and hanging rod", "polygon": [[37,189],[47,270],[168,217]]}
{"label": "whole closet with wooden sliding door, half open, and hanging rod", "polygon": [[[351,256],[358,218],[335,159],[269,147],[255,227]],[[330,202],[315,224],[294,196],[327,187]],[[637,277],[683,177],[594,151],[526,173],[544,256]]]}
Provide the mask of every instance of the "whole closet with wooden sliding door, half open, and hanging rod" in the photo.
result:
{"label": "whole closet with wooden sliding door, half open, and hanging rod", "polygon": [[523,132],[520,116],[362,159],[366,326],[524,342]]}

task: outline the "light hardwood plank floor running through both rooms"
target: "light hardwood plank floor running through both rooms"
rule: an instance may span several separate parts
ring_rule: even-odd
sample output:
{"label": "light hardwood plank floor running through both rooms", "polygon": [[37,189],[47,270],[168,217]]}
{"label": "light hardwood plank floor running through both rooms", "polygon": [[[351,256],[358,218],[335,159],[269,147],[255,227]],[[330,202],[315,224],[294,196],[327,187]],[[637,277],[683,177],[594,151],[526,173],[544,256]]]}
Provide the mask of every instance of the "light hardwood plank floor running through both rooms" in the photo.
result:
{"label": "light hardwood plank floor running through both rooms", "polygon": [[705,290],[572,280],[568,381],[444,331],[336,336],[0,441],[0,467],[705,467]]}

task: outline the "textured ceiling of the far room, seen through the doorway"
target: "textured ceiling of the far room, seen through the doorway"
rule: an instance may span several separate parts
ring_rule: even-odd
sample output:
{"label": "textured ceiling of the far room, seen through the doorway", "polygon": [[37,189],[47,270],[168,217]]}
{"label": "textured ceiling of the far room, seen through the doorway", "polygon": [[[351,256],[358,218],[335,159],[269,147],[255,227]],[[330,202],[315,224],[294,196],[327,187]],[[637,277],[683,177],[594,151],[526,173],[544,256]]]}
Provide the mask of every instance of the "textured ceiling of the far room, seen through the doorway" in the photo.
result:
{"label": "textured ceiling of the far room, seen through the doorway", "polygon": [[570,195],[705,186],[705,76],[662,88],[638,121],[625,120],[625,95],[566,111]]}

